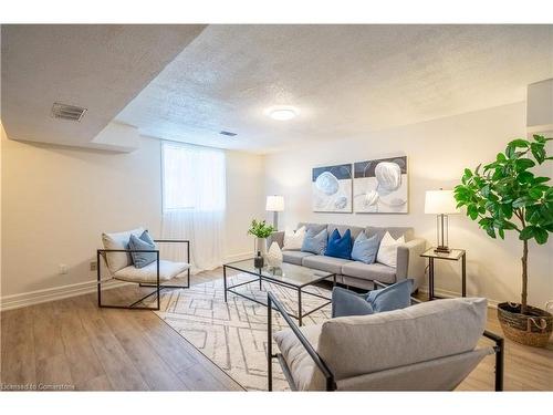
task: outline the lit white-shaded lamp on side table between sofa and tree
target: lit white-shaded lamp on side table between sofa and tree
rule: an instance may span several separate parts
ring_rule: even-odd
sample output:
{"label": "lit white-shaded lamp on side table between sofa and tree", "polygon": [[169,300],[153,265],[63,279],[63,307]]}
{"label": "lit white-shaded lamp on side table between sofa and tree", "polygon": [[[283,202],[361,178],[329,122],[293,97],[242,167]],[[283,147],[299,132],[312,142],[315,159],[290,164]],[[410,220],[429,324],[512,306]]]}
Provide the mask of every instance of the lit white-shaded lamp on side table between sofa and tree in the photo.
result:
{"label": "lit white-shaded lamp on side table between sofa and tree", "polygon": [[459,214],[453,190],[427,190],[425,198],[425,214],[436,215],[436,252],[449,253],[448,248],[448,215]]}

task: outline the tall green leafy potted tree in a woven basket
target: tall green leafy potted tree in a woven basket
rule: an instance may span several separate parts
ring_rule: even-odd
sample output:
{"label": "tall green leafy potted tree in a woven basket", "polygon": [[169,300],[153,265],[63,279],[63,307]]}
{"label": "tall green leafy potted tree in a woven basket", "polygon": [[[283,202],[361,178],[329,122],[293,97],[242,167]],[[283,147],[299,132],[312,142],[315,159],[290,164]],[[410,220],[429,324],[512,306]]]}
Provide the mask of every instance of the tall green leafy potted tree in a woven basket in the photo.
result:
{"label": "tall green leafy potted tree in a woven basket", "polygon": [[478,220],[491,238],[518,234],[522,242],[522,292],[519,302],[502,302],[498,318],[503,333],[515,342],[545,346],[553,330],[553,315],[528,304],[529,242],[547,242],[553,232],[553,187],[551,178],[539,176],[538,165],[551,163],[545,145],[553,138],[534,135],[532,141],[510,142],[495,160],[474,170],[465,169],[455,188],[458,207]]}

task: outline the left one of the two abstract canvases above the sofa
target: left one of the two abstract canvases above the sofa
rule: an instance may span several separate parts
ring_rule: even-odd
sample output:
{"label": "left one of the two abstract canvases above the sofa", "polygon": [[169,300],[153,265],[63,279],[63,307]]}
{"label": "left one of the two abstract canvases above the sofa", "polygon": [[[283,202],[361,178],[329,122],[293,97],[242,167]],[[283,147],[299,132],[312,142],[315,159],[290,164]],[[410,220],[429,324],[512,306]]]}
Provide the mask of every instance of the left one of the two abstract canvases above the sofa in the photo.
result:
{"label": "left one of the two abstract canvases above the sofa", "polygon": [[313,211],[352,212],[351,164],[315,167],[312,175]]}

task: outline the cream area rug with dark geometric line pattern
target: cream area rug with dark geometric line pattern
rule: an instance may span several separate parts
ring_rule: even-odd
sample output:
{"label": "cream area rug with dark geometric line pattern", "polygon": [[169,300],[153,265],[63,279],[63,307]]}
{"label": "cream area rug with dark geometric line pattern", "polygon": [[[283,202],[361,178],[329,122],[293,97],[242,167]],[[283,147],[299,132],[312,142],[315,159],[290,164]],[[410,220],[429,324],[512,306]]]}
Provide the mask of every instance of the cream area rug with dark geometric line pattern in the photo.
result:
{"label": "cream area rug with dark geometric line pattern", "polygon": [[[229,284],[252,279],[249,274],[229,278]],[[298,293],[284,287],[263,281],[242,286],[236,291],[267,302],[267,291],[276,294],[284,308],[298,314]],[[306,287],[306,292],[325,297],[331,291],[320,287]],[[302,308],[312,310],[324,300],[302,294]],[[186,290],[166,291],[161,308],[156,314],[194,344],[201,353],[248,391],[267,391],[267,307],[228,293],[223,299],[222,278],[192,286]],[[305,317],[303,324],[317,324],[331,318],[331,305]],[[278,312],[273,312],[273,330],[288,325]],[[274,346],[276,347],[276,346]],[[276,350],[276,349],[274,349]],[[288,382],[276,361],[273,362],[273,390],[288,390]]]}

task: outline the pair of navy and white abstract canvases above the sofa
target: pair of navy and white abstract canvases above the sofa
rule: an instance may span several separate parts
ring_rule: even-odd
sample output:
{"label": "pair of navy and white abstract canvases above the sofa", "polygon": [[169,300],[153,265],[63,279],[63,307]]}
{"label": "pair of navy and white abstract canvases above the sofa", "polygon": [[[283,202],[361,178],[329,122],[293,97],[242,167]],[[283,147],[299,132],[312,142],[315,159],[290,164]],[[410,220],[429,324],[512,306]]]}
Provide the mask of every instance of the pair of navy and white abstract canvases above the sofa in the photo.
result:
{"label": "pair of navy and white abstract canvases above the sofa", "polygon": [[407,214],[407,156],[313,168],[313,211]]}

